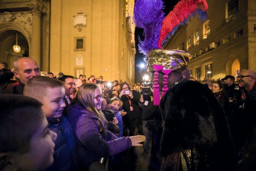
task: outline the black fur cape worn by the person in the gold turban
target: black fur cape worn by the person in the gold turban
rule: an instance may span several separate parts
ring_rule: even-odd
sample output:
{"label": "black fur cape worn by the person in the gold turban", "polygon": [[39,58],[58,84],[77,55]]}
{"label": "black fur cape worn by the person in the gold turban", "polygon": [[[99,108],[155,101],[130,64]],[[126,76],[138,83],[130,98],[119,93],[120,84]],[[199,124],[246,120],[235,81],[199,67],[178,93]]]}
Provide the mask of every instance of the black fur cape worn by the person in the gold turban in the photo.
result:
{"label": "black fur cape worn by the person in the gold turban", "polygon": [[236,151],[227,119],[210,89],[199,82],[179,81],[162,97],[160,107],[160,153],[175,160],[164,170],[179,169],[175,167],[182,158],[188,170],[232,170]]}

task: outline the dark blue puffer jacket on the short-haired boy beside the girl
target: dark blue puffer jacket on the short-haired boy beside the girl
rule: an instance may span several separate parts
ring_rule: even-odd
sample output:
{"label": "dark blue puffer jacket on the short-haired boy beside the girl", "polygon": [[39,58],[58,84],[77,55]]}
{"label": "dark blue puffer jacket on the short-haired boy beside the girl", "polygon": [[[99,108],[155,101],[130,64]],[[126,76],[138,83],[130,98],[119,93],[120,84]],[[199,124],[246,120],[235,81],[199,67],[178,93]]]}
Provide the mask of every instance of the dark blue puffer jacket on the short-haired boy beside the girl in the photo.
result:
{"label": "dark blue puffer jacket on the short-haired boy beside the girl", "polygon": [[76,143],[71,125],[67,118],[62,116],[56,119],[47,119],[49,129],[58,136],[55,141],[53,164],[47,170],[76,170]]}

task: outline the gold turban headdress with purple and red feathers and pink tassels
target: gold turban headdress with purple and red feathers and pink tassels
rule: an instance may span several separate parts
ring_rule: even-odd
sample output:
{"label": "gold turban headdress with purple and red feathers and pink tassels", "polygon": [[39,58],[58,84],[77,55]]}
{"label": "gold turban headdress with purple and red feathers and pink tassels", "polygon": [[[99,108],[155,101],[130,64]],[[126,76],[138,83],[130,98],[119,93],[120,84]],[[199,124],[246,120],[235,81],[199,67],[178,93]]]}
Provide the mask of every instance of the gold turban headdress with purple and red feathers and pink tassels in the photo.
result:
{"label": "gold turban headdress with purple and red feathers and pink tassels", "polygon": [[187,68],[191,55],[185,51],[163,49],[163,44],[191,17],[207,19],[206,0],[181,0],[166,17],[164,17],[162,0],[136,0],[133,20],[137,27],[144,29],[145,39],[139,38],[139,51],[146,58],[147,71],[155,71],[154,105],[160,104],[158,72],[164,73],[162,97],[168,91],[168,74],[180,72]]}

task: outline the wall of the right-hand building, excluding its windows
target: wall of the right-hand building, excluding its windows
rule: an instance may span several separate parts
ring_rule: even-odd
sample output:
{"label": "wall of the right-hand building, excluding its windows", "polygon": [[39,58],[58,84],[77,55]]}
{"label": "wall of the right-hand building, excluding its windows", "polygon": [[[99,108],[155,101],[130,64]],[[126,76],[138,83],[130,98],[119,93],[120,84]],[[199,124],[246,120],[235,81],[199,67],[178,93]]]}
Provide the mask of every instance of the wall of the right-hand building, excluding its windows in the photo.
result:
{"label": "wall of the right-hand building, excluding its windows", "polygon": [[[168,40],[165,45],[167,49],[176,49],[185,43],[185,51],[193,55],[188,68],[195,77],[195,68],[201,67],[201,78],[204,79],[204,64],[212,62],[213,79],[224,78],[225,75],[231,75],[231,66],[235,59],[240,62],[240,70],[253,69],[256,71],[256,33],[253,31],[253,24],[256,19],[256,4],[253,0],[239,0],[237,17],[228,23],[225,23],[225,6],[228,0],[207,1],[208,19],[210,19],[211,34],[203,39],[203,22],[197,18],[192,18],[188,25],[180,27],[174,36]],[[247,17],[248,15],[248,17]],[[243,29],[243,35],[236,37],[234,34]],[[191,37],[193,44],[194,33],[199,31],[199,44],[192,45],[188,50],[188,38]],[[230,42],[223,44],[223,39],[230,36]],[[249,40],[248,40],[249,39]],[[209,44],[220,41],[220,47],[209,49]],[[216,44],[215,44],[216,45]],[[200,50],[208,48],[203,54]],[[196,53],[198,56],[196,57]]]}

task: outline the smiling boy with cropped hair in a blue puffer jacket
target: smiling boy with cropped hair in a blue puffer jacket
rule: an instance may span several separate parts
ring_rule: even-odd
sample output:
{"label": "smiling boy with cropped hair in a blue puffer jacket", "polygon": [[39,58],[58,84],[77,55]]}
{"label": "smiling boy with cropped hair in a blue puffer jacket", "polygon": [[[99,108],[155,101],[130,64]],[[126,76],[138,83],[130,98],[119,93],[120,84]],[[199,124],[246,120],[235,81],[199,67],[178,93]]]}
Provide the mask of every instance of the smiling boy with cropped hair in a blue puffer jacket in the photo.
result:
{"label": "smiling boy with cropped hair in a blue puffer jacket", "polygon": [[31,78],[23,94],[43,103],[42,109],[49,122],[49,129],[58,136],[55,141],[53,164],[46,170],[76,170],[76,143],[71,125],[62,116],[66,104],[64,83],[46,76]]}

